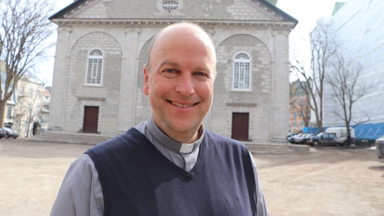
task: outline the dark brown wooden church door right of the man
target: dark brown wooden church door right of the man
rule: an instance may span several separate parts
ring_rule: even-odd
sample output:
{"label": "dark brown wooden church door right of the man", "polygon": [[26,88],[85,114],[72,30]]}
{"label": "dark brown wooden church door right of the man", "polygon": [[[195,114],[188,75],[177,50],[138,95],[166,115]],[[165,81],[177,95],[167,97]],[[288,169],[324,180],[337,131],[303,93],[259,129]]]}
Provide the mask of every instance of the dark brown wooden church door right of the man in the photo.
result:
{"label": "dark brown wooden church door right of the man", "polygon": [[248,141],[249,113],[232,113],[232,139]]}

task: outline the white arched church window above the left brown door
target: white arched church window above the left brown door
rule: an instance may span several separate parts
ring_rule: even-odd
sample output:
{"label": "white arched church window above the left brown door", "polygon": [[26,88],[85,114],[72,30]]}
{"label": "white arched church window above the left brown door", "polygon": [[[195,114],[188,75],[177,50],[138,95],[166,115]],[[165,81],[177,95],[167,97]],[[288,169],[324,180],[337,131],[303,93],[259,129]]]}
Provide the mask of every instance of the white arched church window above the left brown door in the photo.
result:
{"label": "white arched church window above the left brown door", "polygon": [[101,85],[101,73],[103,68],[103,52],[93,49],[88,54],[87,76],[85,83],[89,85]]}

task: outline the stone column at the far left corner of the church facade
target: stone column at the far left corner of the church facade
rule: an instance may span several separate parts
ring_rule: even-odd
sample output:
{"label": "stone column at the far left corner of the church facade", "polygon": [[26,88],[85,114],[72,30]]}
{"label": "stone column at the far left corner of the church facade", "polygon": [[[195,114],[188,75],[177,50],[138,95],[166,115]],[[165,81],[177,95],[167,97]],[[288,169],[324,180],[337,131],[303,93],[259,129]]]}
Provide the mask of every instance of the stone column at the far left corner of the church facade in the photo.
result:
{"label": "stone column at the far left corner of the church facade", "polygon": [[61,131],[64,126],[64,107],[69,64],[71,27],[59,27],[53,70],[51,102],[49,105],[50,131]]}

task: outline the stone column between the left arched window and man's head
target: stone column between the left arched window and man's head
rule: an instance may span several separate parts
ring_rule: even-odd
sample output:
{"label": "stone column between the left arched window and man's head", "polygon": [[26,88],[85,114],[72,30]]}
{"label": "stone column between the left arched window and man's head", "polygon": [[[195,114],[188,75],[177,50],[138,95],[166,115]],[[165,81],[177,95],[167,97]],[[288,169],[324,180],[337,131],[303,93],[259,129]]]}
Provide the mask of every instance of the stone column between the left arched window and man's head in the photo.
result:
{"label": "stone column between the left arched window and man's head", "polygon": [[123,44],[122,71],[119,94],[118,132],[124,132],[134,126],[135,95],[137,83],[137,39],[141,32],[139,28],[126,28]]}

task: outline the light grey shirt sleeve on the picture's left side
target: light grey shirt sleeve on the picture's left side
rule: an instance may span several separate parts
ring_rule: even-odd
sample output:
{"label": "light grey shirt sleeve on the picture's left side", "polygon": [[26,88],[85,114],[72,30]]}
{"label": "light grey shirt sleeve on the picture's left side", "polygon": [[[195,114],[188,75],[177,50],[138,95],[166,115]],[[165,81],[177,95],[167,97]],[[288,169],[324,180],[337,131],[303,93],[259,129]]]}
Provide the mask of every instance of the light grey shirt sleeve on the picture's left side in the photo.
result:
{"label": "light grey shirt sleeve on the picture's left side", "polygon": [[98,173],[88,154],[71,163],[65,174],[51,216],[102,216],[104,202]]}

